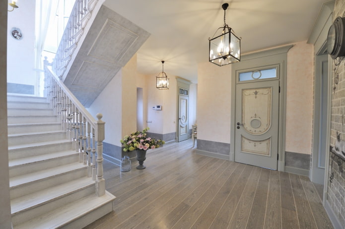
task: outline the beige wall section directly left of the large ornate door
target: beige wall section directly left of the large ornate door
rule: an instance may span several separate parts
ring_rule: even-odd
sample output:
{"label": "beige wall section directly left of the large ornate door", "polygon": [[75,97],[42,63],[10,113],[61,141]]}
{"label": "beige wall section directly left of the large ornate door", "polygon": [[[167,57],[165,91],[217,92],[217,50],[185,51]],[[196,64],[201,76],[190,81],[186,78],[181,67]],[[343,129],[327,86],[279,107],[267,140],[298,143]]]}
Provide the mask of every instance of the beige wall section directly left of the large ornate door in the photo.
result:
{"label": "beige wall section directly left of the large ornate door", "polygon": [[230,143],[231,65],[198,65],[198,139]]}

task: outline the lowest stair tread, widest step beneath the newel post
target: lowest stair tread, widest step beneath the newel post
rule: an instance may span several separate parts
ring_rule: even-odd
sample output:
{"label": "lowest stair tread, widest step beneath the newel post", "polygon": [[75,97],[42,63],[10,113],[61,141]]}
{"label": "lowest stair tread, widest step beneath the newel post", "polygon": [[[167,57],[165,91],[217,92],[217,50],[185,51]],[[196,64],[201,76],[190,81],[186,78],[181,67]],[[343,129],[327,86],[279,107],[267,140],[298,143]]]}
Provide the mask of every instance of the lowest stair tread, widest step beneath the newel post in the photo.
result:
{"label": "lowest stair tread, widest step beneath the newel post", "polygon": [[21,225],[14,226],[14,229],[53,229],[62,227],[68,224],[70,220],[78,219],[114,199],[115,196],[108,191],[100,197],[91,194]]}

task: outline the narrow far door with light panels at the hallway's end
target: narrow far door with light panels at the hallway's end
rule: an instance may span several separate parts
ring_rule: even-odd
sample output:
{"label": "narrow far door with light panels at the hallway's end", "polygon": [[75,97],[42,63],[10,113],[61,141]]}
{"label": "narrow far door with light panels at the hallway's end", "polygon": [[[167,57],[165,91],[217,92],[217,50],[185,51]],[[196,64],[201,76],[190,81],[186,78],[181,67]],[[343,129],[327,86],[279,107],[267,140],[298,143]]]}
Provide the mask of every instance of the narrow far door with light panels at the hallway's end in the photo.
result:
{"label": "narrow far door with light panels at the hallway's end", "polygon": [[179,95],[178,142],[188,139],[188,96]]}

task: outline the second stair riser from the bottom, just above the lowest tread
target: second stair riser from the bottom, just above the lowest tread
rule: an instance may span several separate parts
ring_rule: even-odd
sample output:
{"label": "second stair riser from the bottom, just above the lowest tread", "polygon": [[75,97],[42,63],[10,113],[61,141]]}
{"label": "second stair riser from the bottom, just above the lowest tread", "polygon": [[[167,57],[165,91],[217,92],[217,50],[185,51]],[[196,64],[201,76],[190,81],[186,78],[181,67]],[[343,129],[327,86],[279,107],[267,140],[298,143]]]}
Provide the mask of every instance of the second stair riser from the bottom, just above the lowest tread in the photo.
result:
{"label": "second stair riser from the bottom, just above the lowest tread", "polygon": [[27,209],[27,210],[22,211],[22,212],[17,213],[17,214],[12,214],[12,217],[11,217],[12,224],[13,224],[13,226],[16,226],[18,224],[22,224],[22,223],[24,223],[30,219],[39,217],[40,215],[43,215],[47,212],[50,212],[53,209],[62,207],[66,204],[69,204],[70,202],[73,202],[75,200],[83,198],[83,197],[90,195],[92,193],[96,193],[95,184],[89,185],[86,188],[82,188],[80,190],[69,193],[68,195],[59,196],[56,199],[51,200],[50,202],[44,203],[40,206],[36,206],[34,208]]}

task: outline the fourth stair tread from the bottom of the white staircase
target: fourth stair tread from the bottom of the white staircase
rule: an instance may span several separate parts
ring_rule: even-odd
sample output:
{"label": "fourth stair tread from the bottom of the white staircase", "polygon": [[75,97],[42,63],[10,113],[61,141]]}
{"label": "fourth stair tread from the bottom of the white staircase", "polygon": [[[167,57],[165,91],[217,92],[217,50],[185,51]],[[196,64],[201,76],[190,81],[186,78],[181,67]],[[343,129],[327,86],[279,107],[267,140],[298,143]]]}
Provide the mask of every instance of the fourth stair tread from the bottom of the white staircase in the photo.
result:
{"label": "fourth stair tread from the bottom of the white staircase", "polygon": [[8,166],[14,167],[14,166],[19,166],[19,165],[25,165],[29,163],[46,161],[49,159],[60,158],[60,157],[69,156],[73,154],[78,154],[78,153],[72,150],[68,150],[68,151],[60,151],[60,152],[51,153],[51,154],[42,154],[42,155],[37,155],[37,156],[32,156],[32,157],[19,158],[19,159],[10,160],[8,162]]}

